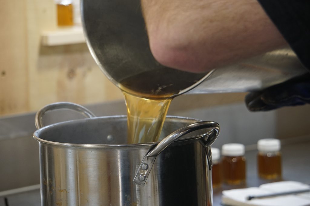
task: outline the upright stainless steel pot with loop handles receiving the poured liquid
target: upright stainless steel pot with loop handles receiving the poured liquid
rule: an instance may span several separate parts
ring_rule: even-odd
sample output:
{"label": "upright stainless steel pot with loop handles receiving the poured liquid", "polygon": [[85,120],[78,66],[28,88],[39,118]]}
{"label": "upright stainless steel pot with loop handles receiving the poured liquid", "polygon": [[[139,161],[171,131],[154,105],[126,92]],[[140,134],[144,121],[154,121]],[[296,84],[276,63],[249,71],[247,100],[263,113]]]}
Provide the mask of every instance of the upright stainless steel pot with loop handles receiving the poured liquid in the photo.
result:
{"label": "upright stainless steel pot with loop handles receiving the poured liquid", "polygon": [[[44,114],[60,108],[89,118],[42,127]],[[126,121],[95,117],[72,103],[38,111],[33,137],[39,141],[42,205],[212,205],[210,145],[217,123],[168,116],[160,142],[126,144]]]}

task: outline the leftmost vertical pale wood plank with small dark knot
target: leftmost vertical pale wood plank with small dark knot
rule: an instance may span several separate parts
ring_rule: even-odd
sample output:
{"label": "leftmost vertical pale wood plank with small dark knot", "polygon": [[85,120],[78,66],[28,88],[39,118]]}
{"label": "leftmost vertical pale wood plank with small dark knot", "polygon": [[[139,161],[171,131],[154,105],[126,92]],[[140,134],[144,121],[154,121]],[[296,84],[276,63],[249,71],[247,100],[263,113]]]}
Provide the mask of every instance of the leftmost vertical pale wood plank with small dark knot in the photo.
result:
{"label": "leftmost vertical pale wood plank with small dark knot", "polygon": [[0,115],[29,108],[25,5],[10,0],[0,6]]}

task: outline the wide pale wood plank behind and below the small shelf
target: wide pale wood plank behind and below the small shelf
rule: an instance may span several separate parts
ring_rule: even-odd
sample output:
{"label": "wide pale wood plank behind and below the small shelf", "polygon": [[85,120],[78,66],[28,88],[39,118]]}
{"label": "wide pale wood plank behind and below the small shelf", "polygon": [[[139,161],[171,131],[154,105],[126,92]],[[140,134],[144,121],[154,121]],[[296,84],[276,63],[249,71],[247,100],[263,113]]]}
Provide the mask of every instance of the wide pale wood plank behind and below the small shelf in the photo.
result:
{"label": "wide pale wood plank behind and below the small shelf", "polygon": [[40,32],[57,29],[54,1],[29,1],[28,6],[30,111],[59,101],[89,104],[122,98],[86,44],[42,46]]}

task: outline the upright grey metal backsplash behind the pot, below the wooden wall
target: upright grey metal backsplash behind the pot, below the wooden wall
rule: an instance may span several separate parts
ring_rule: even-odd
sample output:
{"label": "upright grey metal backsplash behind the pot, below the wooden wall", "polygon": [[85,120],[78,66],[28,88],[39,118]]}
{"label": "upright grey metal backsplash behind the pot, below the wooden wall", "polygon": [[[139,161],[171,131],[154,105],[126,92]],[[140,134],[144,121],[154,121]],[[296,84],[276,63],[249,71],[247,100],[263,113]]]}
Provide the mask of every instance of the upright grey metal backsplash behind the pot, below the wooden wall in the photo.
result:
{"label": "upright grey metal backsplash behind the pot, below the wooden wall", "polygon": [[[247,111],[244,103],[206,107],[206,97],[197,95],[177,98],[171,104],[169,115],[212,120],[220,124],[221,132],[214,142],[215,147],[232,142],[251,145],[261,137],[276,137],[275,111],[252,113]],[[126,115],[123,101],[86,107],[96,116]],[[0,117],[0,192],[40,183],[38,141],[32,137],[36,130],[34,116],[35,113]],[[49,125],[81,117],[73,111],[53,111],[44,116],[43,123]]]}

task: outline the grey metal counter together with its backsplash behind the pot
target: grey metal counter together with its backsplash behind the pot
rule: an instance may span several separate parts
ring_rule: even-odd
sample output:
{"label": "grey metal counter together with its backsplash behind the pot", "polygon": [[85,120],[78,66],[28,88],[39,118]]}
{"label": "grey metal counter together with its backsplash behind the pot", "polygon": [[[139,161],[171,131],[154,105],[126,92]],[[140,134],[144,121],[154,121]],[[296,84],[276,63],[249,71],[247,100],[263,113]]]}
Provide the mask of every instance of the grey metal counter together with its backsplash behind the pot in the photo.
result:
{"label": "grey metal counter together with its backsplash behind the pot", "polygon": [[[190,97],[190,98],[187,98]],[[206,96],[207,97],[207,96]],[[269,111],[253,113],[246,110],[244,103],[235,103],[206,107],[206,99],[201,96],[184,95],[177,97],[169,109],[169,115],[188,116],[202,120],[213,120],[220,124],[221,133],[213,144],[220,147],[225,143],[243,143],[252,145],[261,138],[288,138],[310,134],[308,129],[308,117],[310,106],[290,107],[282,112],[281,120],[286,124],[280,124],[277,119],[277,112]],[[126,107],[123,101],[104,103],[87,106],[97,116],[122,115],[126,114]],[[34,113],[19,116],[0,117],[0,206],[5,206],[4,197],[7,197],[9,206],[39,205],[39,190],[31,190],[30,193],[17,192],[9,193],[20,187],[29,187],[39,184],[39,151],[38,142],[33,139]],[[288,118],[286,118],[288,117]],[[78,114],[70,111],[58,111],[47,114],[45,124],[52,124],[59,121],[78,119]],[[281,135],[279,130],[281,129]],[[283,136],[283,133],[285,134]],[[292,138],[292,146],[284,145],[283,152],[283,177],[285,180],[297,180],[310,184],[310,137]],[[283,141],[289,141],[284,139]],[[283,142],[285,143],[285,142]],[[256,174],[256,149],[246,147],[247,157],[247,187],[259,186],[264,181],[257,178]],[[298,173],[296,173],[296,171]],[[308,181],[308,182],[307,182]],[[230,189],[234,187],[223,187]],[[220,205],[222,189],[214,191],[214,205]],[[3,193],[4,192],[4,193]],[[2,194],[2,195],[1,195]],[[3,195],[4,194],[4,195]],[[33,203],[27,203],[26,199],[33,199]],[[16,203],[16,204],[15,204]],[[24,204],[22,204],[24,203]]]}

